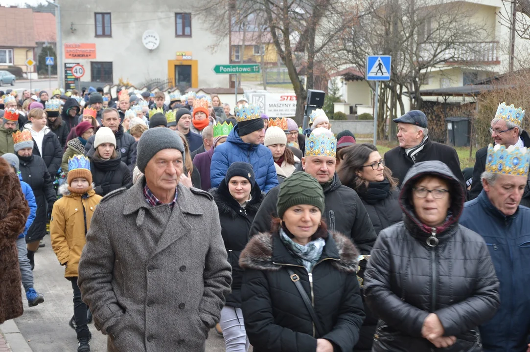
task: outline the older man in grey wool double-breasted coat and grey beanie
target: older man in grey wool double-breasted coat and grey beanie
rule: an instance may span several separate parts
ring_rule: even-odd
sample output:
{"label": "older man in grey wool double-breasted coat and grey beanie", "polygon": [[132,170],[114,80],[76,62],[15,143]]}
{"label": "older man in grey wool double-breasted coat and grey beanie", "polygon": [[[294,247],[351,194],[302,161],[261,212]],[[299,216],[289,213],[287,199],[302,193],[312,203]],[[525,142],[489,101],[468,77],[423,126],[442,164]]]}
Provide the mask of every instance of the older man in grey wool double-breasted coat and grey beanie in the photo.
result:
{"label": "older man in grey wool double-breasted coat and grey beanie", "polygon": [[179,184],[178,134],[144,132],[130,189],[94,212],[78,283],[107,351],[204,351],[232,282],[213,197]]}

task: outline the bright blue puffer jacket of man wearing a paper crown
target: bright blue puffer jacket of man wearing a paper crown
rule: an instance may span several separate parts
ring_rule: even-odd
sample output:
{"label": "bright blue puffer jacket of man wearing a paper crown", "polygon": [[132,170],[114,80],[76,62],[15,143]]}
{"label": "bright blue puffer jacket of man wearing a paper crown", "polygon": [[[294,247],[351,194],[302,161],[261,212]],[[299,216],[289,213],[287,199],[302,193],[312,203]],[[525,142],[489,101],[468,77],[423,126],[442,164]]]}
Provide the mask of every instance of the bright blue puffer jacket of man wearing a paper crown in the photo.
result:
{"label": "bright blue puffer jacket of man wearing a paper crown", "polygon": [[238,131],[236,125],[228,134],[226,142],[215,148],[210,166],[211,186],[219,186],[232,163],[244,161],[252,165],[256,183],[261,191],[267,193],[278,185],[272,152],[266,146],[243,142]]}

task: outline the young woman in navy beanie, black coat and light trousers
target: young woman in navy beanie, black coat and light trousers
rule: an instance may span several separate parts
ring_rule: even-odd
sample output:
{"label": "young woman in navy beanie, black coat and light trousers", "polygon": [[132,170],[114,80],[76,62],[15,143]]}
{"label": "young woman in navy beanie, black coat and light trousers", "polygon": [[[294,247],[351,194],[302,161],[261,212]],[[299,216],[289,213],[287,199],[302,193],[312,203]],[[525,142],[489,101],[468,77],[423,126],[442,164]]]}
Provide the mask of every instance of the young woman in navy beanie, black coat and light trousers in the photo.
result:
{"label": "young woman in navy beanie, black coat and light trousers", "polygon": [[241,283],[243,269],[239,266],[241,251],[250,237],[250,225],[258,212],[265,194],[255,183],[252,165],[237,162],[232,164],[218,188],[210,189],[219,209],[221,234],[232,265],[232,293],[226,297],[221,310],[220,328],[223,329],[227,352],[249,349],[241,311]]}

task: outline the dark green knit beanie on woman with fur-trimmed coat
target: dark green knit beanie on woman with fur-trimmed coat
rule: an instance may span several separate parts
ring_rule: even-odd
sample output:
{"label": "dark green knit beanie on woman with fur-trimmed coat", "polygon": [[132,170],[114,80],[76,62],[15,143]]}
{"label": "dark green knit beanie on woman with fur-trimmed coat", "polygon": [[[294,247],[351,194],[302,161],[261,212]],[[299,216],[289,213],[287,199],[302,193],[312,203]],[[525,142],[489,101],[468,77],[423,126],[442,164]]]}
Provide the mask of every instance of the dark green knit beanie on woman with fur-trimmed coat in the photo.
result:
{"label": "dark green knit beanie on woman with fur-trimmed coat", "polygon": [[305,172],[294,173],[280,185],[278,203],[276,203],[279,218],[281,219],[291,206],[298,204],[314,205],[324,213],[322,186],[316,178]]}

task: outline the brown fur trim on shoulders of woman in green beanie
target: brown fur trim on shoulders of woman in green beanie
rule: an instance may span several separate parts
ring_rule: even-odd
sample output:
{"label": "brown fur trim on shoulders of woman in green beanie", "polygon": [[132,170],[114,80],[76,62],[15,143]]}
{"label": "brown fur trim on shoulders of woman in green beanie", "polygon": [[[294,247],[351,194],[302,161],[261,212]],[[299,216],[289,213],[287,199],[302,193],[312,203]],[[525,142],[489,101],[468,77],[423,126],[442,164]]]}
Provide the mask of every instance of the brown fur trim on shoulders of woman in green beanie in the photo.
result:
{"label": "brown fur trim on shoulders of woman in green beanie", "polygon": [[[277,271],[283,267],[275,264],[275,257],[278,248],[287,250],[277,234],[268,232],[258,233],[249,241],[245,249],[241,252],[239,265],[243,269],[271,270]],[[326,244],[322,252],[322,258],[332,259],[331,265],[341,272],[357,273],[359,265],[359,251],[349,238],[338,232],[329,232]]]}

